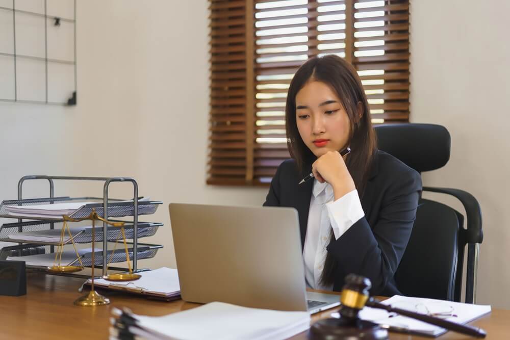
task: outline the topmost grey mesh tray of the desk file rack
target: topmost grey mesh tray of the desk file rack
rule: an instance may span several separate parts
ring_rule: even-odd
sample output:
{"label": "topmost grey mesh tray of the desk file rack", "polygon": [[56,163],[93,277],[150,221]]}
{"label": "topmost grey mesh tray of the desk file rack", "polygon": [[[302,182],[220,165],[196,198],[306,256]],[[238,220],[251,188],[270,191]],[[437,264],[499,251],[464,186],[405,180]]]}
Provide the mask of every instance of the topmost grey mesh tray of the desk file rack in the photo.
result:
{"label": "topmost grey mesh tray of the desk file rack", "polygon": [[[73,202],[73,201],[97,201],[97,203],[86,204],[81,207],[79,210],[75,211],[71,215],[72,218],[84,218],[92,213],[92,208],[95,208],[97,215],[100,217],[104,217],[104,207],[103,207],[103,199],[97,197],[79,197],[79,198],[70,198],[70,197],[53,197],[53,198],[37,198],[37,199],[21,199],[21,200],[9,200],[2,201],[0,203],[0,217],[1,218],[20,218],[20,219],[28,219],[28,220],[48,220],[48,221],[62,221],[62,218],[41,218],[41,217],[27,217],[27,216],[14,216],[9,215],[6,210],[6,206],[14,205],[14,206],[26,206],[26,205],[36,205],[36,204],[50,204],[50,203],[64,203],[64,202]],[[158,209],[158,205],[163,204],[162,201],[139,201],[138,202],[138,215],[150,215],[154,214]],[[109,199],[108,203],[108,218],[110,217],[124,217],[124,216],[133,216],[135,214],[135,207],[133,202],[125,202],[120,201],[118,199]]]}

